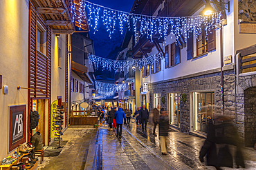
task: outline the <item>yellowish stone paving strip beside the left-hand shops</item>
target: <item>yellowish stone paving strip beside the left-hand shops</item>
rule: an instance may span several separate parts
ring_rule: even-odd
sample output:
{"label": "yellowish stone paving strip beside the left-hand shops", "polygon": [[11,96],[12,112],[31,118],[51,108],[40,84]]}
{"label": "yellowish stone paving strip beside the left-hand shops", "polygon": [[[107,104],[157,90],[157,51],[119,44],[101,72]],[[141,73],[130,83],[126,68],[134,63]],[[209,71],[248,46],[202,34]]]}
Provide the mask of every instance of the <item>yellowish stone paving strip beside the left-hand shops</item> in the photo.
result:
{"label": "yellowish stone paving strip beside the left-hand shops", "polygon": [[62,136],[68,140],[59,156],[44,157],[37,170],[84,170],[89,145],[95,142],[97,130],[93,128],[68,128]]}

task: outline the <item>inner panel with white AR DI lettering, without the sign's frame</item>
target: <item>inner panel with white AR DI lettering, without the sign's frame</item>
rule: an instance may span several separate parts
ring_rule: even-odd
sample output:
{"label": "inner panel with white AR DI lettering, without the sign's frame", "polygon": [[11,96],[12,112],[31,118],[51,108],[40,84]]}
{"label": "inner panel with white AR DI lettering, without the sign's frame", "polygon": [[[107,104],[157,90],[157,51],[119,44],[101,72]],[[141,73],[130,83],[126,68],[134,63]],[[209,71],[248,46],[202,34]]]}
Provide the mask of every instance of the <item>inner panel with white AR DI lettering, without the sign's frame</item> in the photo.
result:
{"label": "inner panel with white AR DI lettering, without the sign's frame", "polygon": [[24,138],[23,135],[24,112],[15,112],[12,115],[12,143]]}

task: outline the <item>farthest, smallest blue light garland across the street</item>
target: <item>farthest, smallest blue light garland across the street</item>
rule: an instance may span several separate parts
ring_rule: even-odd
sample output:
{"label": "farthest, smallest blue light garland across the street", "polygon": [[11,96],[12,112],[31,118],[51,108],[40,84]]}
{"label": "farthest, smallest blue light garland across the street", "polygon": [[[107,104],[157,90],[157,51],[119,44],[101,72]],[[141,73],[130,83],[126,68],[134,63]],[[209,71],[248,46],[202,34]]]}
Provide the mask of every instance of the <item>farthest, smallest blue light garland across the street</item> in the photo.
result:
{"label": "farthest, smallest blue light garland across the street", "polygon": [[127,84],[123,83],[120,85],[111,84],[111,83],[102,83],[95,81],[95,87],[98,90],[98,94],[102,96],[101,98],[107,98],[113,96],[115,92],[120,92],[121,90],[126,89]]}

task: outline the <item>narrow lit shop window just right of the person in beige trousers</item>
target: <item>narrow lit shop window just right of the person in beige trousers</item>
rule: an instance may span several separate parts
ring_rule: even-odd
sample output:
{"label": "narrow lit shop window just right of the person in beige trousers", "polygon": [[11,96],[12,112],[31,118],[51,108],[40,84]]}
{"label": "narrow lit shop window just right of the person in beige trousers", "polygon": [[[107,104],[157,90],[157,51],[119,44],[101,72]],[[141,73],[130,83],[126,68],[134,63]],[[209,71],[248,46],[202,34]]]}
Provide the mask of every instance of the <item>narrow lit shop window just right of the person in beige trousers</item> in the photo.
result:
{"label": "narrow lit shop window just right of the person in beige trousers", "polygon": [[169,94],[170,123],[179,127],[181,120],[181,94]]}

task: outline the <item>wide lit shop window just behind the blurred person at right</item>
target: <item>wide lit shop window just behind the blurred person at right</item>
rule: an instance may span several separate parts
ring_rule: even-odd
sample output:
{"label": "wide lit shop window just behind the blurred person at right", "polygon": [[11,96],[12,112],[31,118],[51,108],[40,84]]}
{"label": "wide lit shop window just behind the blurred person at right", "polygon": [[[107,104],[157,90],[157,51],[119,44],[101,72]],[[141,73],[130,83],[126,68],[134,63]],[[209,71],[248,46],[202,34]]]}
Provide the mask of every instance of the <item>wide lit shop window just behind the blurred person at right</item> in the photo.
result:
{"label": "wide lit shop window just behind the blurred person at right", "polygon": [[214,124],[214,92],[194,93],[194,130],[208,131]]}

